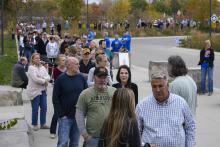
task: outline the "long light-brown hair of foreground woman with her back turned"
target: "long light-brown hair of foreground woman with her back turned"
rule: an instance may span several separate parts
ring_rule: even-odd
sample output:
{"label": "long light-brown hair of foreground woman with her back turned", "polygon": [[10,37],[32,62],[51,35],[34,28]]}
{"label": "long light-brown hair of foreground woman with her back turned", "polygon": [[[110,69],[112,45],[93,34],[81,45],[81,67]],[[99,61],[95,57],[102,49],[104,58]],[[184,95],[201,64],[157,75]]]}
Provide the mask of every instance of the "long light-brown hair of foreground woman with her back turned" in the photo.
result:
{"label": "long light-brown hair of foreground woman with her back turned", "polygon": [[119,147],[119,144],[128,143],[126,138],[129,137],[134,121],[136,121],[134,93],[128,88],[119,88],[113,95],[110,113],[103,124],[105,147]]}

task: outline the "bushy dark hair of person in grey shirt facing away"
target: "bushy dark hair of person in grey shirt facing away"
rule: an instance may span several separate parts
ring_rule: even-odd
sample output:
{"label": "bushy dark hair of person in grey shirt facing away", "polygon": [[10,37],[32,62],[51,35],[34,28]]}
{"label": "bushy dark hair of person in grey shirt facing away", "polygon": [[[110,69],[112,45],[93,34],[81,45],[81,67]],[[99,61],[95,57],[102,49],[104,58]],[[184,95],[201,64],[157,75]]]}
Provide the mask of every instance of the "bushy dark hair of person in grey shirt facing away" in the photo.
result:
{"label": "bushy dark hair of person in grey shirt facing away", "polygon": [[186,64],[180,56],[170,56],[168,58],[168,66],[170,66],[168,72],[171,77],[183,76],[188,73]]}

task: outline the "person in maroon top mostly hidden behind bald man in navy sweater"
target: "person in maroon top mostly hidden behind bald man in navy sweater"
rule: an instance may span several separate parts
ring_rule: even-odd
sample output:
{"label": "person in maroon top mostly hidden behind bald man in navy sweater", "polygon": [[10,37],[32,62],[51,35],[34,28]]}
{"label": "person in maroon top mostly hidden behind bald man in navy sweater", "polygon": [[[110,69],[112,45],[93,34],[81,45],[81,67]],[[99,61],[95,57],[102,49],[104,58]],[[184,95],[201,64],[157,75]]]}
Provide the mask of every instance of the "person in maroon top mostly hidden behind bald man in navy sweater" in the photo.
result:
{"label": "person in maroon top mostly hidden behind bald man in navy sweater", "polygon": [[[66,72],[66,56],[64,54],[58,55],[56,59],[57,67],[53,69],[53,80],[56,82],[57,78],[64,72]],[[51,120],[50,125],[50,138],[54,139],[56,137],[56,130],[57,130],[57,120],[58,120],[58,114],[56,110],[54,109],[54,114]]]}

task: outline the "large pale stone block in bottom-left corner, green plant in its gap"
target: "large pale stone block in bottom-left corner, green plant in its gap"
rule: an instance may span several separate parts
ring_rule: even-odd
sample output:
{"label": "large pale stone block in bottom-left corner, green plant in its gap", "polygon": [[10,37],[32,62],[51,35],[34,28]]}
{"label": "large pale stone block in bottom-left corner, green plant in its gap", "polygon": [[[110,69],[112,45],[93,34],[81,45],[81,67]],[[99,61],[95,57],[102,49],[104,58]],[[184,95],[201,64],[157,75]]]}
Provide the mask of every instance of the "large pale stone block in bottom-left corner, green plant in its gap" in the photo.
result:
{"label": "large pale stone block in bottom-left corner, green plant in its gap", "polygon": [[30,147],[33,145],[33,132],[25,120],[23,106],[0,107],[0,122],[17,118],[15,126],[0,130],[0,147]]}

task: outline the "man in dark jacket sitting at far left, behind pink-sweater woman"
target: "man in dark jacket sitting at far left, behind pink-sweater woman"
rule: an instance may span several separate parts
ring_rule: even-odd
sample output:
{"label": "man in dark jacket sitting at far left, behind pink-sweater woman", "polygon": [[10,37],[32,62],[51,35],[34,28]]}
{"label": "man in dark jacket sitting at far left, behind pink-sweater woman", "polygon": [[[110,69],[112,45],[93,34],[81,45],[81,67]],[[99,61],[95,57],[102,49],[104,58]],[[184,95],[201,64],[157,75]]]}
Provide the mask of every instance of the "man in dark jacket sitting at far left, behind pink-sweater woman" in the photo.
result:
{"label": "man in dark jacket sitting at far left, behind pink-sweater woman", "polygon": [[28,84],[28,77],[25,73],[25,66],[28,63],[26,57],[21,57],[12,70],[12,87],[25,88]]}

